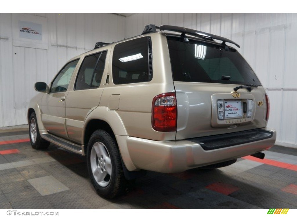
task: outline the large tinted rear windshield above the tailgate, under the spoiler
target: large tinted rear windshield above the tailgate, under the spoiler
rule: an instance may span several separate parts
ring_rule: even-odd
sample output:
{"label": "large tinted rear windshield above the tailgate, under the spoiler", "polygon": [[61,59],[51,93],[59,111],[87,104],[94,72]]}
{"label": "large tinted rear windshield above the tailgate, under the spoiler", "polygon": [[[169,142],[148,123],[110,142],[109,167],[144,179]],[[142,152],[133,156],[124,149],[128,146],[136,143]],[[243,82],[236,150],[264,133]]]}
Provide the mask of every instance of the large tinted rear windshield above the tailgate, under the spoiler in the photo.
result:
{"label": "large tinted rear windshield above the tailgate, under the spoiler", "polygon": [[169,36],[167,41],[173,81],[261,85],[234,49],[225,51],[223,47],[194,40],[184,43],[181,38]]}

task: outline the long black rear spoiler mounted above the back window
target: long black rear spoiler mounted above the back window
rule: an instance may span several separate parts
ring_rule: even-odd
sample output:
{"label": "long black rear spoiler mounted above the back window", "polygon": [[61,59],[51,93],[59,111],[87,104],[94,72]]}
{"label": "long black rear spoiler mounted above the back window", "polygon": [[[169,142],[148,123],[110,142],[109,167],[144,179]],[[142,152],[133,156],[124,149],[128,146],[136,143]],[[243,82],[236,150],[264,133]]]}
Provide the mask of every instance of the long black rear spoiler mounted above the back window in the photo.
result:
{"label": "long black rear spoiler mounted above the back window", "polygon": [[159,27],[159,29],[160,29],[160,31],[167,30],[167,31],[173,31],[173,32],[186,33],[186,34],[193,35],[193,36],[199,36],[201,38],[217,39],[217,40],[222,41],[222,45],[224,47],[226,46],[226,42],[229,42],[231,44],[236,45],[238,48],[240,48],[240,46],[236,42],[233,42],[232,40],[230,40],[228,38],[224,38],[224,37],[213,35],[213,34],[206,33],[206,32],[201,32],[198,30],[190,29],[190,28],[183,28],[183,27],[173,26],[173,25],[161,25]]}

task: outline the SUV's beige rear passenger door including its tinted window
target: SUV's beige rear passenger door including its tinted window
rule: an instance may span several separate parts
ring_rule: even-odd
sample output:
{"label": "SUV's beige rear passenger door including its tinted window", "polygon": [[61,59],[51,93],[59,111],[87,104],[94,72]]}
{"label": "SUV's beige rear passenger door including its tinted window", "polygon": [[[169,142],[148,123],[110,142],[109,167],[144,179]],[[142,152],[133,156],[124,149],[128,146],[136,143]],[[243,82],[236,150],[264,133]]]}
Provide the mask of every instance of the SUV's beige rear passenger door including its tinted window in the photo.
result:
{"label": "SUV's beige rear passenger door including its tinted window", "polygon": [[103,89],[102,76],[108,72],[109,51],[88,55],[78,70],[73,89],[66,99],[66,127],[69,139],[80,143],[86,116],[99,105]]}

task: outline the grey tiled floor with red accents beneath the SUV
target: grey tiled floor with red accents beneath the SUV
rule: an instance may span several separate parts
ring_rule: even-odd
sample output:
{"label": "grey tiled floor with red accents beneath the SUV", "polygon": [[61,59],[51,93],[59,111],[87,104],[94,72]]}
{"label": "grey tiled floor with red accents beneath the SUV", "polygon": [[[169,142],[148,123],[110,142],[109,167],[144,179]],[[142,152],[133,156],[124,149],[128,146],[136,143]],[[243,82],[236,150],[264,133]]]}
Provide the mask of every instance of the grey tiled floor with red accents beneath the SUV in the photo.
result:
{"label": "grey tiled floor with red accents beneath the SUV", "polygon": [[53,144],[34,150],[27,132],[0,133],[0,209],[297,209],[297,149],[265,154],[214,170],[148,172],[131,192],[105,200],[85,157]]}

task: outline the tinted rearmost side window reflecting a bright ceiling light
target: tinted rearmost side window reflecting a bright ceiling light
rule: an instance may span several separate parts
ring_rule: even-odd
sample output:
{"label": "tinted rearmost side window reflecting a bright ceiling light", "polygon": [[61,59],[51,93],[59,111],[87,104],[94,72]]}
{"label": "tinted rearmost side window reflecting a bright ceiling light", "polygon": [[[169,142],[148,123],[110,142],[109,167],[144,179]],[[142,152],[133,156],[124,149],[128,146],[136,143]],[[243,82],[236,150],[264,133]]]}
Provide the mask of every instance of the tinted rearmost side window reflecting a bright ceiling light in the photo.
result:
{"label": "tinted rearmost side window reflecting a bright ceiling light", "polygon": [[117,44],[113,50],[112,76],[116,85],[151,81],[151,38],[136,38]]}

